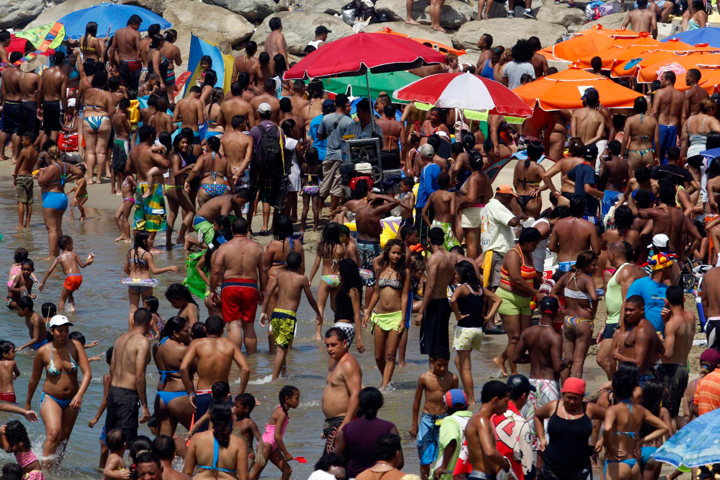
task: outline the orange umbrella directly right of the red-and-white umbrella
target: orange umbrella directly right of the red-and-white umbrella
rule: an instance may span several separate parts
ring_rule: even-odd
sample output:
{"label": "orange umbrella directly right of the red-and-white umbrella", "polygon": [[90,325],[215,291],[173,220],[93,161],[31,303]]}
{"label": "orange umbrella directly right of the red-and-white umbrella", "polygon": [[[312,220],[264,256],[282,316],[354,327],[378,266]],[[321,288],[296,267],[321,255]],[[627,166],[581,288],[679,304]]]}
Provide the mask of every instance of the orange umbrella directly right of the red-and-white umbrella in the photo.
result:
{"label": "orange umbrella directly right of the red-and-white umbrella", "polygon": [[642,96],[609,78],[584,71],[577,65],[518,86],[513,91],[530,107],[539,102],[540,108],[546,111],[573,110],[582,108],[582,94],[590,87],[598,91],[600,102],[607,108],[632,107],[635,99]]}

